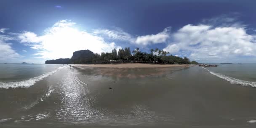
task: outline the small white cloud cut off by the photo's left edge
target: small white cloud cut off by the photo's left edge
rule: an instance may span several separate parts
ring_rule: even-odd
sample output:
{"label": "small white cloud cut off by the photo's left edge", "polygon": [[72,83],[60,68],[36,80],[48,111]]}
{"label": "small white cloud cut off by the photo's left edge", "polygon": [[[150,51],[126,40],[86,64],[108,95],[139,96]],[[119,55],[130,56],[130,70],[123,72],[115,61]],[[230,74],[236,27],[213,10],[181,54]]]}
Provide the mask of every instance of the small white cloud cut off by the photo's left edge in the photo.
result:
{"label": "small white cloud cut off by the photo's left edge", "polygon": [[13,37],[6,35],[0,35],[0,61],[6,61],[14,58],[21,57],[19,53],[13,50],[11,43],[8,43],[11,40],[16,40]]}

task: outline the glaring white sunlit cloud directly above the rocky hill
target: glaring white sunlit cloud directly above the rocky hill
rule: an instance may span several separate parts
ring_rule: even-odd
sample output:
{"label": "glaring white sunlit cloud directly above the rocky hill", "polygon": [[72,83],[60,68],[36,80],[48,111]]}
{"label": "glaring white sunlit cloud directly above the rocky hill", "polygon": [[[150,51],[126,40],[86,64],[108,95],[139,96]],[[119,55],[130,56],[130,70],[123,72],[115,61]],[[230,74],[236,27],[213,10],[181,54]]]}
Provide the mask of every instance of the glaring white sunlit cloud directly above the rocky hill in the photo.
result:
{"label": "glaring white sunlit cloud directly above the rocky hill", "polygon": [[35,55],[44,59],[70,58],[74,51],[84,49],[101,53],[120,48],[114,42],[107,43],[102,37],[78,30],[74,22],[67,20],[58,21],[45,29],[41,36],[33,32],[23,32],[19,39],[21,43],[37,50]]}

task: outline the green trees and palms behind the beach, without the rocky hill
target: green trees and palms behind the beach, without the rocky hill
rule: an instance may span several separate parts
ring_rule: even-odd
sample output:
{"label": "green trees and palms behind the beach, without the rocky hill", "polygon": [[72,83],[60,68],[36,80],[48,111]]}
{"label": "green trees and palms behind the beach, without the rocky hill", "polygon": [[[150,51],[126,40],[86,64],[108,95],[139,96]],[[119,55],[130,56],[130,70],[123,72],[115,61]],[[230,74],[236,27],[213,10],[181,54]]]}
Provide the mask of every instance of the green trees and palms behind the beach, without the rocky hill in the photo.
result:
{"label": "green trees and palms behind the beach, without the rocky hill", "polygon": [[186,56],[183,58],[168,55],[169,52],[158,48],[151,49],[149,53],[141,52],[139,48],[131,51],[130,48],[113,49],[111,53],[94,53],[92,63],[152,63],[152,64],[198,64],[196,61],[190,61]]}

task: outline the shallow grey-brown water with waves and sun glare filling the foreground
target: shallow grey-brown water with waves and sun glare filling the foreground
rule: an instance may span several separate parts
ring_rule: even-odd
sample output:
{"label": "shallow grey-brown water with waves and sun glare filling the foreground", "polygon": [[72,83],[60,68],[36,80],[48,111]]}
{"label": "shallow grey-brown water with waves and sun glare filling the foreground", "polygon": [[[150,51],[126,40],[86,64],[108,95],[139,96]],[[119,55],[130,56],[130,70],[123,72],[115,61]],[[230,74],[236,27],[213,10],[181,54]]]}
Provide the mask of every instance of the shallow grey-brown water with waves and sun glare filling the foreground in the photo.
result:
{"label": "shallow grey-brown water with waves and sun glare filling the foreground", "polygon": [[0,64],[0,126],[255,128],[255,67]]}

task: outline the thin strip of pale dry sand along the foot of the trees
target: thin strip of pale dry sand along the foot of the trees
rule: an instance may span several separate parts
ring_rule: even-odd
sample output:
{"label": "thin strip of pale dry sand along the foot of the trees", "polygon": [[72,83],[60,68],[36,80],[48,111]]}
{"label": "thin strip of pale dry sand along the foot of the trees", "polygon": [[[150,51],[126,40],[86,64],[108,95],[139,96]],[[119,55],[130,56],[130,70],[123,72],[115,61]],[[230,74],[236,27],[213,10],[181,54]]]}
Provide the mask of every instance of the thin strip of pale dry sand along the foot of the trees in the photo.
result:
{"label": "thin strip of pale dry sand along the foot of the trees", "polygon": [[192,64],[72,64],[73,67],[105,67],[105,68],[160,68],[190,67]]}

